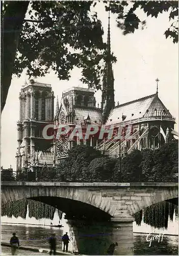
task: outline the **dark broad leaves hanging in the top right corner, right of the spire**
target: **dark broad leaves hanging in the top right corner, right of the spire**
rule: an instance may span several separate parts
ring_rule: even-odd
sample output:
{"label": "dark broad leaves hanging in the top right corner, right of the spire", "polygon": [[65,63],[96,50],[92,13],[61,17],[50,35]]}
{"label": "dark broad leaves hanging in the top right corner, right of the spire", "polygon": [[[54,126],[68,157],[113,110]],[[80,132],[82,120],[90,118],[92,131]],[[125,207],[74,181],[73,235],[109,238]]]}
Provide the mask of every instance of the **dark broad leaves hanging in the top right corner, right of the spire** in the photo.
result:
{"label": "dark broad leaves hanging in the top right corner, right of the spire", "polygon": [[141,20],[137,14],[140,9],[147,16],[157,18],[161,13],[169,13],[171,26],[165,31],[165,36],[178,42],[178,2],[177,1],[105,1],[109,3],[106,10],[117,13],[117,26],[123,30],[123,34],[134,33],[141,26],[144,28],[146,20]]}

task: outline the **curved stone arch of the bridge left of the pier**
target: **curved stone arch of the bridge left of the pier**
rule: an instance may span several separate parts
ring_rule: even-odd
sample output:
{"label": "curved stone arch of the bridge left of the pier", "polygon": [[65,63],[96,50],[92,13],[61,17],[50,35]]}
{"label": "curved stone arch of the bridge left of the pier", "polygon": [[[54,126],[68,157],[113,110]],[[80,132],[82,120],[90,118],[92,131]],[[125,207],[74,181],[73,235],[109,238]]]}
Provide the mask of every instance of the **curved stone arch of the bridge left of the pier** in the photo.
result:
{"label": "curved stone arch of the bridge left of the pier", "polygon": [[[19,183],[19,182],[18,182]],[[23,183],[23,182],[22,182]],[[20,185],[20,184],[19,184]],[[104,218],[109,219],[110,215],[110,201],[104,204],[100,195],[90,193],[89,190],[79,189],[79,187],[56,187],[56,186],[15,186],[15,187],[3,187],[2,188],[2,205],[21,200],[21,199],[33,199],[41,201],[56,207],[56,205],[64,204],[71,205],[78,204],[78,206],[84,209],[84,213],[89,215],[90,207],[93,214],[103,215]],[[77,206],[77,207],[78,207]],[[57,207],[64,212],[68,212],[68,209],[64,206]],[[67,207],[68,208],[68,207]],[[92,213],[92,212],[91,212]]]}

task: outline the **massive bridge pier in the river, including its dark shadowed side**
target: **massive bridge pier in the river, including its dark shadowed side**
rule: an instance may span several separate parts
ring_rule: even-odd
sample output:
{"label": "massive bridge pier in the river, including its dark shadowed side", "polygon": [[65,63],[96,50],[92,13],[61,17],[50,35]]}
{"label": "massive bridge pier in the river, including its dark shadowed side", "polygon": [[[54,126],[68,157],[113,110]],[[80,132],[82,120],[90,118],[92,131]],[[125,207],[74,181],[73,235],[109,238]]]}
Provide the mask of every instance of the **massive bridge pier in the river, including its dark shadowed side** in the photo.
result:
{"label": "massive bridge pier in the river, including its dark shadowed side", "polygon": [[133,221],[133,217],[111,218],[106,222],[68,220],[69,236],[73,238],[71,251],[106,255],[110,244],[117,242],[114,255],[133,255]]}

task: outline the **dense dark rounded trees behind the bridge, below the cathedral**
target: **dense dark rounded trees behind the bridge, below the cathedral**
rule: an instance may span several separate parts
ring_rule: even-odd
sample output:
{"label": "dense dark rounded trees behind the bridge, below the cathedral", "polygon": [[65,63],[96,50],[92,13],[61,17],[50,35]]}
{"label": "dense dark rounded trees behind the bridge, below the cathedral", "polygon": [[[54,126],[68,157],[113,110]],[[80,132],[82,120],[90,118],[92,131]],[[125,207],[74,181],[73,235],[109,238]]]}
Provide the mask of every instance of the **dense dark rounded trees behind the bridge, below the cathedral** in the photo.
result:
{"label": "dense dark rounded trees behind the bridge, below the cathedral", "polygon": [[[178,140],[158,150],[134,150],[120,161],[101,155],[93,147],[74,146],[56,169],[54,181],[73,182],[176,182]],[[42,179],[42,177],[41,177]]]}

